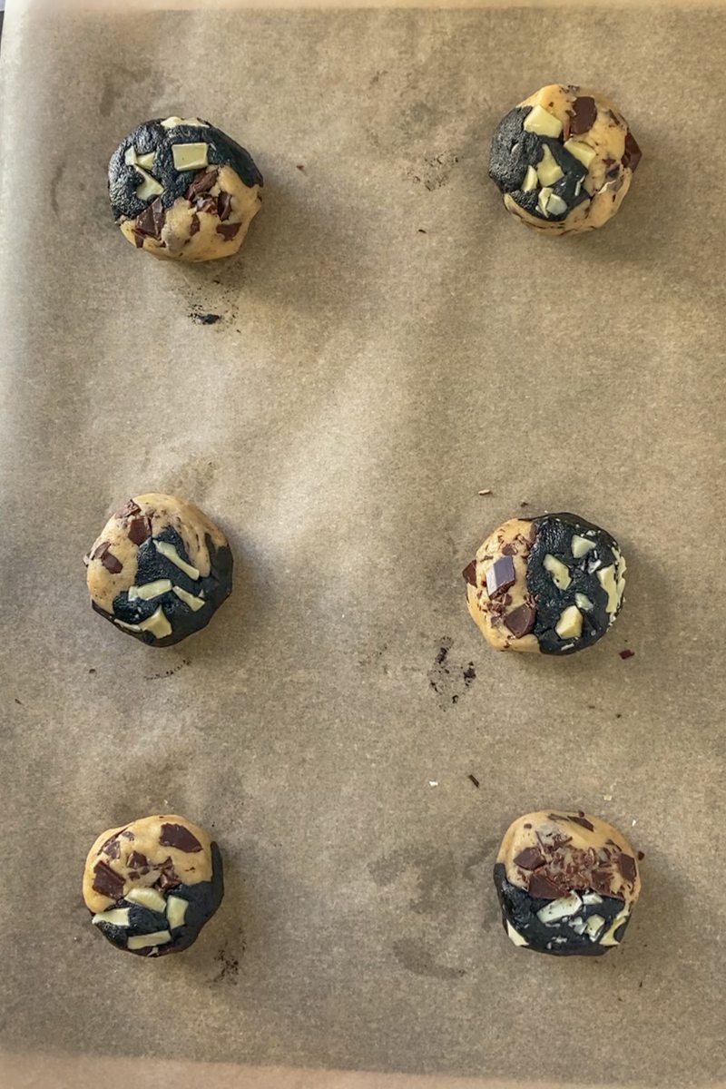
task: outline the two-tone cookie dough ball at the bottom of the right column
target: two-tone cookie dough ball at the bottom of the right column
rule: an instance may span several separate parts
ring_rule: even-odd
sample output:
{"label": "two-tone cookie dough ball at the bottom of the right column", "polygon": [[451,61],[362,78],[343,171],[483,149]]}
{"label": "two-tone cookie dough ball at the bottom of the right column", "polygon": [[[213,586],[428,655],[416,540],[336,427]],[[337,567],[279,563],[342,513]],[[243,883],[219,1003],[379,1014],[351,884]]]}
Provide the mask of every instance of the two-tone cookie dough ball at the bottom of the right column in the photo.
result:
{"label": "two-tone cookie dough ball at the bottom of the right column", "polygon": [[636,854],[598,817],[526,813],[502,841],[494,884],[508,938],[538,953],[600,956],[619,945],[640,895]]}

